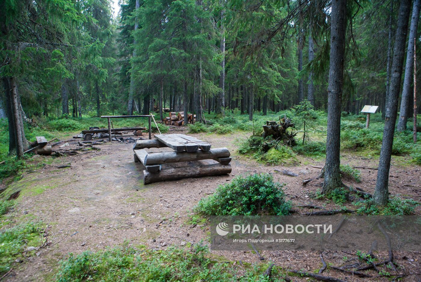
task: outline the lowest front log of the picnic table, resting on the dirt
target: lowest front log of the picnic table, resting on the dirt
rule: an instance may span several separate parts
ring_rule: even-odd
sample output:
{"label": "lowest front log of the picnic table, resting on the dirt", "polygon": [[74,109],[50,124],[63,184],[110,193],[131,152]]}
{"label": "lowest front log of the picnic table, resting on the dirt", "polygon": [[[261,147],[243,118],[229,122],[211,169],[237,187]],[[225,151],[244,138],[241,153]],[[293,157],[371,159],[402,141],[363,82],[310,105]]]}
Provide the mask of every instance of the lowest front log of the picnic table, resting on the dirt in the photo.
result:
{"label": "lowest front log of the picnic table, resting on the dirt", "polygon": [[199,166],[168,167],[161,169],[161,171],[158,173],[150,173],[147,170],[143,171],[144,184],[150,184],[165,180],[177,180],[188,177],[205,177],[230,173],[231,165],[223,165],[220,163]]}

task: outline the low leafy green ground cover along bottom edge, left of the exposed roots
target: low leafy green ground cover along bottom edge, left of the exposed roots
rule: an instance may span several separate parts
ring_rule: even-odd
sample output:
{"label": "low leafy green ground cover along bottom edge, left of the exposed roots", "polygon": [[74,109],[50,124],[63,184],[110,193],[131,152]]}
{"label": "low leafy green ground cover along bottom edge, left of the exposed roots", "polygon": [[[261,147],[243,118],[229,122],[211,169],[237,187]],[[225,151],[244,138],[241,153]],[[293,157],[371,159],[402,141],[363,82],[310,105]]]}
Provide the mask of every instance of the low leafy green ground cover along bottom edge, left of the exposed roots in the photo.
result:
{"label": "low leafy green ground cover along bottom edge, left of the exposed roots", "polygon": [[[237,276],[229,263],[213,258],[208,247],[201,244],[191,248],[171,246],[165,250],[144,246],[136,249],[126,244],[96,253],[70,254],[67,260],[61,261],[56,281],[269,281],[262,274],[267,265],[244,266],[247,269]],[[272,277],[282,281],[276,267]]]}

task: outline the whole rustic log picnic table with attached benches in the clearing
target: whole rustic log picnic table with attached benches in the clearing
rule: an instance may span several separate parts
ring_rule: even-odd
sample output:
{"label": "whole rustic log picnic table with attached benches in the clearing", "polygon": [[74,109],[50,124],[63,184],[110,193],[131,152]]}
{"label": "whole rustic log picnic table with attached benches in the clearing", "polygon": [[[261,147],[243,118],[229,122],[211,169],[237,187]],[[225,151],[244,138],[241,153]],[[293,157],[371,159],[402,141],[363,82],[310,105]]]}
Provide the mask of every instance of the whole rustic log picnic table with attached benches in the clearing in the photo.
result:
{"label": "whole rustic log picnic table with attached benches in the clearing", "polygon": [[[146,148],[171,148],[173,151],[148,153]],[[157,134],[155,140],[138,140],[133,146],[136,163],[143,165],[144,184],[231,173],[227,148],[210,148],[208,142],[185,134]],[[163,167],[166,163],[215,160],[212,164]]]}

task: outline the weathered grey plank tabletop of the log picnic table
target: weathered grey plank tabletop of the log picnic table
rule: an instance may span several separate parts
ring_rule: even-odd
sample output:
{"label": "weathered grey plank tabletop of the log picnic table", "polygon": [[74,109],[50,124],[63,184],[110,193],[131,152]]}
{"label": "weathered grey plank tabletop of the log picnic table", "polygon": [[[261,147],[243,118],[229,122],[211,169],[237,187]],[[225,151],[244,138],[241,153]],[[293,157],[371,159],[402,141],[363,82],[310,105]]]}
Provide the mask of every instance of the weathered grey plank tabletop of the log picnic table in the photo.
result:
{"label": "weathered grey plank tabletop of the log picnic table", "polygon": [[195,152],[199,148],[205,152],[210,150],[208,142],[185,134],[157,134],[155,138],[176,152]]}

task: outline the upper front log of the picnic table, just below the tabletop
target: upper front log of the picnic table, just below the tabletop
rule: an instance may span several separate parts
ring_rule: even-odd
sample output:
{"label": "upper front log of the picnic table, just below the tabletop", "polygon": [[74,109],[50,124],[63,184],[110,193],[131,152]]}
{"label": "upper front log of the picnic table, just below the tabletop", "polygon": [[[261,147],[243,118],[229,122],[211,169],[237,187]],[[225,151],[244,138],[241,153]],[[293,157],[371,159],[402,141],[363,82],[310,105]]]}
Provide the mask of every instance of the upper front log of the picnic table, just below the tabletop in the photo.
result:
{"label": "upper front log of the picnic table, just below the tabletop", "polygon": [[163,164],[163,163],[179,163],[182,161],[199,161],[199,160],[208,160],[214,158],[226,158],[229,157],[230,153],[227,148],[212,148],[208,152],[204,152],[202,150],[198,150],[196,152],[160,152],[160,153],[146,153],[146,150],[143,152],[139,152],[141,150],[134,150],[135,154],[139,157],[144,165],[152,165],[152,164]]}

